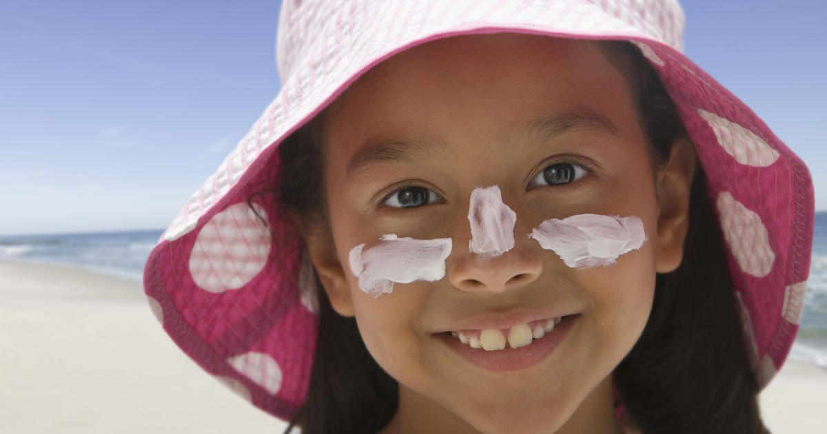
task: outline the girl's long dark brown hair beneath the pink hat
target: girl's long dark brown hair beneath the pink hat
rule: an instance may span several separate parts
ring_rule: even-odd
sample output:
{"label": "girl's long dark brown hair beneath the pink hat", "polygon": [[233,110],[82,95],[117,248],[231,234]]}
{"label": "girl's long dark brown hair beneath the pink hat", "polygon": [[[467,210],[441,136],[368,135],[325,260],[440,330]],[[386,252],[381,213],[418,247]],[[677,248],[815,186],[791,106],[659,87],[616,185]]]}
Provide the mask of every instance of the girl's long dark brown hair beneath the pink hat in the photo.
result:
{"label": "girl's long dark brown hair beneath the pink hat", "polygon": [[[598,44],[637,93],[653,164],[662,164],[672,142],[686,134],[672,99],[634,45]],[[299,215],[325,222],[318,127],[305,125],[280,145],[279,195]],[[615,369],[615,384],[628,417],[647,434],[767,432],[700,166],[690,201],[681,265],[657,275],[647,325]],[[366,350],[355,319],[334,312],[324,291],[318,298],[320,325],[307,401],[285,432],[294,425],[304,434],[377,432],[396,412],[399,386]]]}

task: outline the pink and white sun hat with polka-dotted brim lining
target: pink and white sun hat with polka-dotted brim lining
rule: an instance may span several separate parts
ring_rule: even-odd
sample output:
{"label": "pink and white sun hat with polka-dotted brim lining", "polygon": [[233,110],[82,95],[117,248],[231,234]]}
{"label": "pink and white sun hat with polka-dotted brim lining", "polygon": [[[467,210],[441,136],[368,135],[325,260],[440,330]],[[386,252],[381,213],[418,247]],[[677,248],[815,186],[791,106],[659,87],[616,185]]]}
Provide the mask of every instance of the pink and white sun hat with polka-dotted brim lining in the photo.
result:
{"label": "pink and white sun hat with polka-dotted brim lining", "polygon": [[294,417],[313,364],[318,289],[288,212],[275,195],[254,195],[277,179],[278,146],[391,55],[506,31],[633,41],[653,65],[705,169],[753,370],[766,385],[801,321],[812,182],[764,122],[681,53],[683,12],[670,0],[284,0],[280,93],[146,263],[148,302],[175,343],[256,407]]}

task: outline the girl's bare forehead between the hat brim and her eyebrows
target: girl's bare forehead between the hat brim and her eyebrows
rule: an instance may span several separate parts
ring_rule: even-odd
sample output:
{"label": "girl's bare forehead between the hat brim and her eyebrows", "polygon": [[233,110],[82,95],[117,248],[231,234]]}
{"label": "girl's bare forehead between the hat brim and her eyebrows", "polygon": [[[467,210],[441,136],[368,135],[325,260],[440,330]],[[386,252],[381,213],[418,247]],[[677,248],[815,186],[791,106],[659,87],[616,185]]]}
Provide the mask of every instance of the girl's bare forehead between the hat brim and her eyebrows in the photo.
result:
{"label": "girl's bare forehead between the hat brim and her eyebrows", "polygon": [[431,41],[376,65],[332,104],[325,130],[337,146],[382,134],[451,143],[571,113],[622,130],[629,112],[627,80],[598,43],[498,33]]}

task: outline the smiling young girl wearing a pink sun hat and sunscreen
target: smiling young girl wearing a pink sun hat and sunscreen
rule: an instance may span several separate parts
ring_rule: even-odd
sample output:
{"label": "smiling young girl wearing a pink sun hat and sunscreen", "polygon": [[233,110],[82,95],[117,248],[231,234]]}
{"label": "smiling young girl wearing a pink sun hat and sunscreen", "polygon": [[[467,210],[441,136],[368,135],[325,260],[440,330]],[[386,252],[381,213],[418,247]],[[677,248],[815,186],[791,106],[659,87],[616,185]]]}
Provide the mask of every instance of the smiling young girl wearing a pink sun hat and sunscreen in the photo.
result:
{"label": "smiling young girl wearing a pink sun hat and sunscreen", "polygon": [[304,433],[766,432],[812,186],[681,26],[285,0],[282,91],[153,250],[153,312]]}

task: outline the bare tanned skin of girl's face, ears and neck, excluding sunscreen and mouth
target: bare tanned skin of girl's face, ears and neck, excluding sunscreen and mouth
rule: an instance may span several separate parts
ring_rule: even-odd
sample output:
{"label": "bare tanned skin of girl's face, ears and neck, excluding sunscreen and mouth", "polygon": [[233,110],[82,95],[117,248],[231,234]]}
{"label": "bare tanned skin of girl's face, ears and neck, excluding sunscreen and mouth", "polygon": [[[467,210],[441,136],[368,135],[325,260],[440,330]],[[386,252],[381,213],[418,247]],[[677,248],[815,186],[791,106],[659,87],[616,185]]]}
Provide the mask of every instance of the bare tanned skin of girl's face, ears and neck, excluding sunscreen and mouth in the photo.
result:
{"label": "bare tanned skin of girl's face, ears and neck, excluding sunscreen and mouth", "polygon": [[[595,42],[460,36],[385,60],[325,112],[329,229],[304,222],[303,231],[333,308],[356,317],[399,382],[383,432],[619,432],[611,374],[646,325],[656,272],[681,262],[695,164],[681,139],[653,169],[633,94]],[[388,142],[405,145],[364,153]],[[349,171],[357,155],[375,158]],[[538,174],[561,163],[586,171],[544,184]],[[490,185],[517,214],[514,248],[493,258],[467,248],[471,192]],[[411,186],[422,206],[394,207],[394,191]],[[615,265],[572,269],[527,236],[583,213],[638,216],[648,241]],[[361,292],[348,252],[389,233],[452,238],[445,277],[379,298]],[[515,312],[577,316],[552,354],[509,372],[471,365],[438,336]]]}

